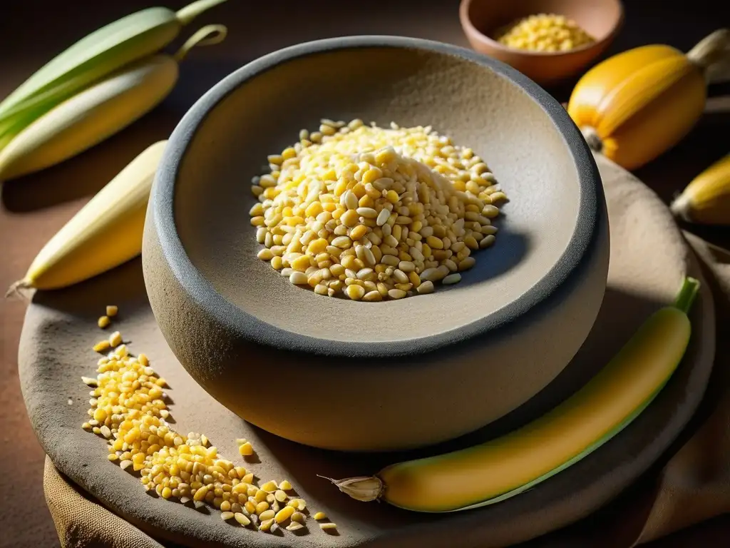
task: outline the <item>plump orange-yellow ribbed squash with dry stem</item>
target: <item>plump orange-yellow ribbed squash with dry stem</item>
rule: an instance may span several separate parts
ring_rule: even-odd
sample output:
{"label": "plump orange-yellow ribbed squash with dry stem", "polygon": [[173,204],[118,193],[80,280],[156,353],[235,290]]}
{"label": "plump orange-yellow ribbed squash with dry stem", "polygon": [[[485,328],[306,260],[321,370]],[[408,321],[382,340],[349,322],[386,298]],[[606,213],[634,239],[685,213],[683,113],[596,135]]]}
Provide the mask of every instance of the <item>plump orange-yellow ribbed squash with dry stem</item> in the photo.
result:
{"label": "plump orange-yellow ribbed squash with dry stem", "polygon": [[730,31],[686,55],[667,45],[619,53],[575,86],[568,113],[596,151],[635,169],[676,145],[702,115],[707,71],[730,56]]}

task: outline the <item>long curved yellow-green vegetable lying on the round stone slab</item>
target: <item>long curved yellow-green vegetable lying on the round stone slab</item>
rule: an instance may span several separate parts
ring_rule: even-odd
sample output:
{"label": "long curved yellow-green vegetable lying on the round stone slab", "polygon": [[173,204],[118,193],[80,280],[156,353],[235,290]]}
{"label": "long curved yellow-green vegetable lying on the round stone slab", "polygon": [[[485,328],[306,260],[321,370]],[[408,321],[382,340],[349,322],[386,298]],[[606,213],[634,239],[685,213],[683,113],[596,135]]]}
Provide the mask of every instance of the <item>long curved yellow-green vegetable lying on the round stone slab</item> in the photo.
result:
{"label": "long curved yellow-green vegetable lying on the round stone slab", "polygon": [[358,501],[423,512],[487,506],[530,489],[598,449],[651,403],[685,353],[687,312],[698,290],[699,282],[686,278],[673,306],[656,311],[588,384],[529,425],[375,476],[330,481]]}

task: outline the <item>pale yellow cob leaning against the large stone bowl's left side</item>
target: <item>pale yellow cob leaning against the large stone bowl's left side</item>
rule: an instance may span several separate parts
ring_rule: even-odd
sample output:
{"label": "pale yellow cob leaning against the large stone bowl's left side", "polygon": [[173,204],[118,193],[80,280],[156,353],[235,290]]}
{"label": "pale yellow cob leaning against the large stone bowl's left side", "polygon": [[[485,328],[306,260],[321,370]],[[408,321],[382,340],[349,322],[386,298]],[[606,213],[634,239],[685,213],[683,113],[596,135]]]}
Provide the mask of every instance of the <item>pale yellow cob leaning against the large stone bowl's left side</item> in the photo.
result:
{"label": "pale yellow cob leaning against the large stone bowl's left side", "polygon": [[142,151],[107,183],[48,241],[8,293],[69,286],[138,256],[147,200],[166,143]]}

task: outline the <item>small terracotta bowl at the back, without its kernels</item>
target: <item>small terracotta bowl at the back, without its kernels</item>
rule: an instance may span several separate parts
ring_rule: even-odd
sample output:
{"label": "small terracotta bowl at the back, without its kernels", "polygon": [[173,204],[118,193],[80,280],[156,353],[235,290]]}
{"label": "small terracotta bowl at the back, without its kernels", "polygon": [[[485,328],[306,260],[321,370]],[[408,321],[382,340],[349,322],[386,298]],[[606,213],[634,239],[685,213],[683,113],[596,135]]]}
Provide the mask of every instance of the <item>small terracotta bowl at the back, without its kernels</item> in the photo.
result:
{"label": "small terracotta bowl at the back, without its kernels", "polygon": [[[564,52],[539,52],[507,47],[493,38],[504,26],[539,13],[575,20],[595,42]],[[619,0],[461,0],[459,19],[475,50],[549,85],[576,75],[603,53],[621,27],[623,6]]]}

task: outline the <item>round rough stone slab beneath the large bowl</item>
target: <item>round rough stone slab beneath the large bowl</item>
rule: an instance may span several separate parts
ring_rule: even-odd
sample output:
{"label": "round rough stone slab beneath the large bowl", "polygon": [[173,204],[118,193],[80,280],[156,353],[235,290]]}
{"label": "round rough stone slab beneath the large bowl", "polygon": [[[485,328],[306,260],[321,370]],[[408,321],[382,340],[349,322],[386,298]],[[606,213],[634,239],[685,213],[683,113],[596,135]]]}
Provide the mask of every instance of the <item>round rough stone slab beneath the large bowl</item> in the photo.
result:
{"label": "round rough stone slab beneath the large bowl", "polygon": [[[530,539],[585,517],[645,471],[699,403],[714,355],[709,292],[702,292],[692,313],[694,338],[683,365],[645,414],[585,460],[529,492],[476,511],[434,516],[349,500],[316,474],[372,473],[393,460],[472,444],[541,414],[590,378],[648,313],[672,299],[685,269],[697,275],[680,233],[671,226],[665,231],[653,229],[669,223],[654,194],[623,170],[604,162],[601,167],[615,232],[609,289],[596,325],[556,381],[484,431],[418,453],[362,456],[310,449],[251,427],[207,395],[174,359],[155,325],[141,267],[135,261],[73,289],[37,294],[28,308],[20,380],[39,441],[58,470],[104,506],[155,539],[191,547],[429,547],[450,544],[458,532],[460,547],[488,548]],[[639,237],[630,237],[627,231]],[[647,289],[654,287],[664,289]],[[252,440],[257,462],[248,467],[262,479],[290,479],[313,511],[326,511],[337,522],[338,536],[325,536],[316,527],[304,536],[232,527],[216,511],[195,511],[147,495],[137,477],[106,460],[104,441],[80,428],[88,408],[88,387],[80,376],[88,376],[95,368],[91,346],[101,337],[96,318],[110,300],[120,306],[115,327],[131,350],[147,353],[153,366],[169,379],[176,427],[184,433],[206,433],[221,454],[242,465],[235,439]],[[277,378],[266,365],[255,369],[246,373],[252,390],[267,386],[274,393],[280,391],[284,402],[296,402],[296,386]]]}

